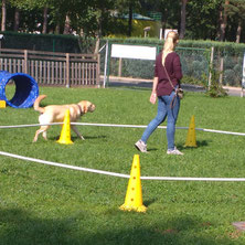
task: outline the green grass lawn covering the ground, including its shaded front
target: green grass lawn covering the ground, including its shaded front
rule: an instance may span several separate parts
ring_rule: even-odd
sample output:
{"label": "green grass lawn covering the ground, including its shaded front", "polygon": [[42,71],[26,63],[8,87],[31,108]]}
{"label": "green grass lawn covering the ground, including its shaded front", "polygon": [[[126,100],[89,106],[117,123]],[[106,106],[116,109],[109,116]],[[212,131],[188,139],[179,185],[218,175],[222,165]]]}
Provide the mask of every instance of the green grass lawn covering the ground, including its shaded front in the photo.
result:
{"label": "green grass lawn covering the ground, including its shaded front", "polygon": [[[10,89],[11,90],[11,89]],[[51,88],[41,105],[88,99],[96,105],[83,122],[147,125],[157,113],[150,90]],[[188,93],[177,126],[245,132],[245,103],[239,97],[210,98]],[[0,125],[38,124],[30,109],[0,109]],[[166,124],[163,124],[166,125]],[[0,129],[0,151],[129,174],[134,143],[143,129],[77,126],[73,145],[56,142],[60,126],[32,143],[36,127]],[[245,178],[245,137],[196,131],[198,148],[184,148],[188,130],[178,129],[184,156],[168,156],[166,129],[140,155],[141,175]],[[0,244],[244,244],[233,222],[245,221],[243,182],[142,180],[146,213],[122,212],[128,179],[62,169],[0,156]]]}

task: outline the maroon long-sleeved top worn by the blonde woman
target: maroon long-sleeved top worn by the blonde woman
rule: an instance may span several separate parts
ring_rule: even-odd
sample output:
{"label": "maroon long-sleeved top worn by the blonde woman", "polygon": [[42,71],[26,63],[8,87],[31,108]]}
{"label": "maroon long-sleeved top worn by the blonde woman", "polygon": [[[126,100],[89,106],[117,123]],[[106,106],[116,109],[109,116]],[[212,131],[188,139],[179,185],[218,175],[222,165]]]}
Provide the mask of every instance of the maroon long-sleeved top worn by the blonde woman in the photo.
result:
{"label": "maroon long-sleeved top worn by the blonde woman", "polygon": [[[164,65],[173,86],[180,86],[180,79],[183,76],[180,56],[175,52],[169,53],[166,57]],[[158,77],[157,95],[170,95],[173,87],[168,79],[164,67],[162,66],[162,53],[159,53],[156,58],[155,77]]]}

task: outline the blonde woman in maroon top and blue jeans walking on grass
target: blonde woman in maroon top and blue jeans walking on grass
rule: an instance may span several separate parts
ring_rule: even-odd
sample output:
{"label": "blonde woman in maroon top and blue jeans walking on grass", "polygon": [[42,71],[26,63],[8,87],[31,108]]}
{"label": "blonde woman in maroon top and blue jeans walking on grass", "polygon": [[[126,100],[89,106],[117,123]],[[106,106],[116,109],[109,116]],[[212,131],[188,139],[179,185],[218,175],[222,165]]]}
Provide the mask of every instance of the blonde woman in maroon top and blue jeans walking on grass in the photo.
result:
{"label": "blonde woman in maroon top and blue jeans walking on grass", "polygon": [[[174,146],[175,122],[180,109],[180,98],[175,88],[180,87],[182,70],[179,55],[174,52],[179,42],[177,32],[169,32],[164,42],[163,52],[156,58],[155,78],[150,103],[156,104],[158,98],[158,114],[150,121],[140,140],[135,146],[141,152],[147,152],[147,140],[155,129],[164,121],[167,122],[168,155],[183,155]],[[171,82],[170,82],[171,81]]]}

